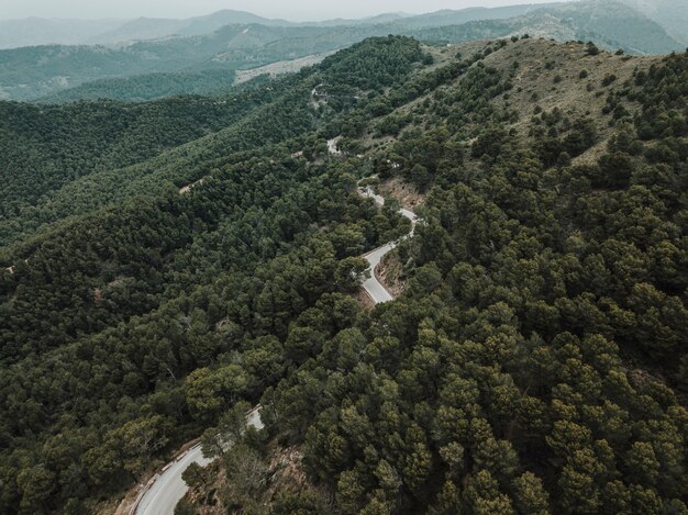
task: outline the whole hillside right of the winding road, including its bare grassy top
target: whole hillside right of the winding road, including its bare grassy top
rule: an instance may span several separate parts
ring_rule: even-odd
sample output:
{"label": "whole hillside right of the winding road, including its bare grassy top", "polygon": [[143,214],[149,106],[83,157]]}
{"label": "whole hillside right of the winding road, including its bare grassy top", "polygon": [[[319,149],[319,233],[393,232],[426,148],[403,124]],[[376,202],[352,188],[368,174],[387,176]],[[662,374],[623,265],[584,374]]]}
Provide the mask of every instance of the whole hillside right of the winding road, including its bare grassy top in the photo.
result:
{"label": "whole hillside right of the winding road, including its bare grassy top", "polygon": [[297,318],[285,347],[311,359],[262,434],[218,448],[218,417],[181,513],[686,510],[688,53],[456,49],[340,142],[370,183],[429,191],[404,293]]}

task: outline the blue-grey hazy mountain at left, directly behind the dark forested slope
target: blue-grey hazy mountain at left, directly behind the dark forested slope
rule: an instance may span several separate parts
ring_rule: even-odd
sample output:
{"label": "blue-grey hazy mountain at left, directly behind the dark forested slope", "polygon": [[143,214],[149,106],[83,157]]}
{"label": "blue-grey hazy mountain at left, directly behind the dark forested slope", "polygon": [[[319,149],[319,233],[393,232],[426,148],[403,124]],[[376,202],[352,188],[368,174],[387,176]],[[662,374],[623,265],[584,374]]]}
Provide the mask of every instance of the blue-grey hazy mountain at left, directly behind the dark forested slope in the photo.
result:
{"label": "blue-grey hazy mountain at left, directly behind the dark forested slope", "polygon": [[140,42],[121,48],[44,46],[0,51],[0,98],[36,99],[93,80],[141,74],[256,68],[386,34],[386,25],[225,25],[206,36]]}

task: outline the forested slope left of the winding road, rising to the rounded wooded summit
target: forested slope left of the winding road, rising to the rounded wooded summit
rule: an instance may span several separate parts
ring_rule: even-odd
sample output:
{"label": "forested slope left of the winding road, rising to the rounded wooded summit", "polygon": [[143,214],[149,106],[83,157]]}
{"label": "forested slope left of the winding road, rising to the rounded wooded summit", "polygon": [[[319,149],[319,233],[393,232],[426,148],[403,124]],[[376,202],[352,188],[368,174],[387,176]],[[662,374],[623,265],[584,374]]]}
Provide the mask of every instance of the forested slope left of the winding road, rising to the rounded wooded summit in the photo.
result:
{"label": "forested slope left of the winding road, rising to the rounded wooded summit", "polygon": [[[259,318],[244,324],[249,339],[284,333],[297,313],[325,298],[343,323],[355,315],[346,296],[356,287],[351,257],[406,227],[396,227],[393,212],[368,220],[374,209],[351,194],[352,177],[328,161],[314,131],[351,111],[353,96],[398,88],[421,58],[411,40],[364,42],[311,74],[274,85],[271,108],[149,163],[154,188],[4,249],[13,265],[0,273],[1,512],[114,511],[98,501],[140,480],[173,445],[202,429],[182,401],[180,381],[231,351],[225,338],[238,334],[220,312],[197,318],[197,301],[224,305],[222,292],[231,291],[237,313],[264,304]],[[310,103],[321,81],[336,85],[324,110]],[[318,163],[291,157],[295,149]],[[187,193],[169,187],[192,175],[204,180]],[[270,300],[285,284],[275,277],[278,269],[292,284],[287,304],[275,298],[279,306]],[[184,298],[195,299],[191,311]],[[41,329],[44,323],[52,328]],[[225,336],[208,339],[201,326]],[[255,376],[236,376],[235,393],[257,394],[274,382],[256,366]],[[156,413],[145,414],[148,408]],[[60,450],[45,455],[44,446]]]}

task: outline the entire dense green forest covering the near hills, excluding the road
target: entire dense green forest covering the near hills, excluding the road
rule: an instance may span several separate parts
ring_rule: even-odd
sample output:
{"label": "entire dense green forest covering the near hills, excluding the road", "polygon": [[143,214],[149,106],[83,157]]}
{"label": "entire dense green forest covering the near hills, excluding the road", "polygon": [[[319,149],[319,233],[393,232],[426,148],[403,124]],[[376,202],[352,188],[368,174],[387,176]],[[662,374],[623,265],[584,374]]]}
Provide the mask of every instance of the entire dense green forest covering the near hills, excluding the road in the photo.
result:
{"label": "entire dense green forest covering the near hills, excluding the road", "polygon": [[[688,53],[389,36],[235,94],[1,105],[0,513],[201,434],[178,513],[688,513]],[[373,175],[424,202],[368,309]]]}

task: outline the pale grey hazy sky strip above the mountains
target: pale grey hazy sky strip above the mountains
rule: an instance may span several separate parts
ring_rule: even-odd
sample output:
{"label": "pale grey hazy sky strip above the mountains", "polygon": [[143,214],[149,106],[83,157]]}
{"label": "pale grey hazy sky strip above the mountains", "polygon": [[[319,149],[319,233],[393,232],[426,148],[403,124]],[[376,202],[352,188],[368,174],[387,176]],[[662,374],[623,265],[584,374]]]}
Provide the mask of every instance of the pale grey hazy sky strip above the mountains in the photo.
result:
{"label": "pale grey hazy sky strip above the mountains", "polygon": [[0,0],[0,19],[38,18],[188,18],[221,9],[249,11],[292,21],[360,18],[381,12],[410,13],[475,5],[544,3],[552,0]]}

